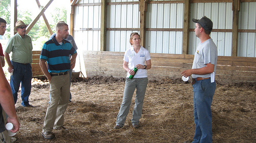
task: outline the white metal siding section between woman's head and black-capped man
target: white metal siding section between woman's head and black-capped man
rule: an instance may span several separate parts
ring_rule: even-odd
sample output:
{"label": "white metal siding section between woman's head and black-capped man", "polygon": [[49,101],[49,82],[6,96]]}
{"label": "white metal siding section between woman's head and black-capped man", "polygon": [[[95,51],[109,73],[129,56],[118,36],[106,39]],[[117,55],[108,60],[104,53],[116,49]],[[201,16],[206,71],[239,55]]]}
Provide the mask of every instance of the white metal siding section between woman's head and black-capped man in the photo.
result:
{"label": "white metal siding section between woman's head and black-capped man", "polygon": [[[184,4],[147,5],[146,28],[183,28]],[[182,53],[183,32],[147,31],[151,53]]]}

